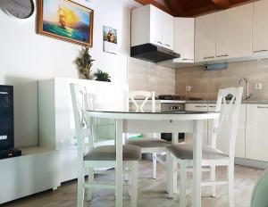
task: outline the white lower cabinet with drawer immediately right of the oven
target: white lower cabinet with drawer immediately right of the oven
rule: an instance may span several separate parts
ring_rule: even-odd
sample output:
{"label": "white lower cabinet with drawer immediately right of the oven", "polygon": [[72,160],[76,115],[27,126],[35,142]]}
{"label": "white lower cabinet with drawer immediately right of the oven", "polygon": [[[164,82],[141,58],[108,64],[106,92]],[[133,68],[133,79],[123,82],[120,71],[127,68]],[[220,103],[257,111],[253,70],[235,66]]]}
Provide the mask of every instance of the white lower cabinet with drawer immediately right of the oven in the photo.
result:
{"label": "white lower cabinet with drawer immediately right of the oven", "polygon": [[[207,104],[185,104],[186,111],[207,112]],[[207,120],[203,121],[203,145],[207,145]],[[186,142],[191,143],[192,134],[186,134]]]}

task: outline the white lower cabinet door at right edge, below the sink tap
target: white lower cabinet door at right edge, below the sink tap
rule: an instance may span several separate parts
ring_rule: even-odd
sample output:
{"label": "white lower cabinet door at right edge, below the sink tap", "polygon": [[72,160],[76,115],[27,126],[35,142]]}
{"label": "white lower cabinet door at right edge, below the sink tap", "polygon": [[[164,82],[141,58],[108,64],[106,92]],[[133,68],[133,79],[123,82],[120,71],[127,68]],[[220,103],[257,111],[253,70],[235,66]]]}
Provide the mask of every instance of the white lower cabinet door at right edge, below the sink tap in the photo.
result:
{"label": "white lower cabinet door at right edge, below the sink tap", "polygon": [[247,104],[246,158],[268,161],[268,104]]}

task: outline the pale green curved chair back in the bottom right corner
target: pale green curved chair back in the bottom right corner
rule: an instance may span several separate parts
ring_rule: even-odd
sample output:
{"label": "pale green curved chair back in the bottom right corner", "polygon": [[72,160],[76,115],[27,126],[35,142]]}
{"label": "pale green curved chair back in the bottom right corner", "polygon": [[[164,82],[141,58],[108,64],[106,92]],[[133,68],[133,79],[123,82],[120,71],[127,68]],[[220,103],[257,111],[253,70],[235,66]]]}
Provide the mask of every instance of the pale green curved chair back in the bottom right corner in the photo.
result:
{"label": "pale green curved chair back in the bottom right corner", "polygon": [[268,169],[256,183],[251,195],[251,207],[268,207]]}

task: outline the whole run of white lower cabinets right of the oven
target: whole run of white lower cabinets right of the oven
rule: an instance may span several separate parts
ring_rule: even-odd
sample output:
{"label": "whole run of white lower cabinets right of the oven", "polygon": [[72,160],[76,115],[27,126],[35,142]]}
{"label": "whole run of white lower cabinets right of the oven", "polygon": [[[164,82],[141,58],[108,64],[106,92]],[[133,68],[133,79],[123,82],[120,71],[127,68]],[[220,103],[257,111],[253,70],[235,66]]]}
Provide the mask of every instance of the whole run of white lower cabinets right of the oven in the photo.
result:
{"label": "whole run of white lower cabinets right of the oven", "polygon": [[[186,104],[186,111],[214,112],[215,104]],[[241,104],[239,128],[236,140],[235,157],[255,161],[268,161],[268,104]],[[213,120],[204,122],[203,144],[211,143]],[[229,153],[229,137],[227,122],[222,123],[222,131],[217,137],[217,148]],[[186,141],[191,142],[191,135]]]}

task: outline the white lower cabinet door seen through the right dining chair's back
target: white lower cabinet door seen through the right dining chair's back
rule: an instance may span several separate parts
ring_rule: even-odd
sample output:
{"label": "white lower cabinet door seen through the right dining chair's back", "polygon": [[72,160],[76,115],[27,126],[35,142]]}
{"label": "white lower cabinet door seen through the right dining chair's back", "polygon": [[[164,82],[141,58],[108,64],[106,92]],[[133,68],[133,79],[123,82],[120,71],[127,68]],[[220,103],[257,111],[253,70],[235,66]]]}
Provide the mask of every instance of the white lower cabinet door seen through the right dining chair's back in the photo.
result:
{"label": "white lower cabinet door seen through the right dining chair's back", "polygon": [[[208,104],[208,112],[214,112],[215,104]],[[224,110],[224,109],[222,109]],[[232,110],[232,109],[230,109]],[[230,112],[231,114],[231,112]],[[208,120],[208,142],[211,143],[213,120]],[[229,125],[227,121],[222,123],[223,130],[217,137],[217,148],[222,150],[223,153],[229,153],[229,136],[227,134]],[[225,130],[226,128],[226,130]],[[239,115],[239,128],[236,140],[235,157],[245,158],[245,137],[246,137],[246,104],[241,104]]]}

